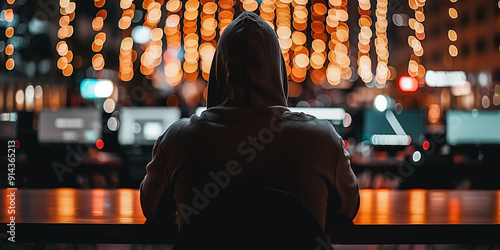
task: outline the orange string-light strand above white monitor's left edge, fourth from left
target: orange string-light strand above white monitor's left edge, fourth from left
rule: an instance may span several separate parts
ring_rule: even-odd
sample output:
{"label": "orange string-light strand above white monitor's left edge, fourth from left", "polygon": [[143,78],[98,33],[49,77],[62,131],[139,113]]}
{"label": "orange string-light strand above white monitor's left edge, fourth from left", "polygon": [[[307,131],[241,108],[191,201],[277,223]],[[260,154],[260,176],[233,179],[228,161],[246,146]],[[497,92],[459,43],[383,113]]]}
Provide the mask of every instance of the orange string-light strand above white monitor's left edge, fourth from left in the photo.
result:
{"label": "orange string-light strand above white monitor's left edge, fourth from left", "polygon": [[137,52],[133,50],[134,40],[130,37],[130,25],[134,18],[135,4],[132,3],[132,0],[120,0],[120,8],[123,12],[118,21],[118,28],[124,30],[124,37],[120,44],[118,77],[120,80],[128,82],[134,77],[134,62],[137,59]]}

